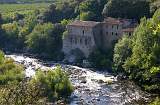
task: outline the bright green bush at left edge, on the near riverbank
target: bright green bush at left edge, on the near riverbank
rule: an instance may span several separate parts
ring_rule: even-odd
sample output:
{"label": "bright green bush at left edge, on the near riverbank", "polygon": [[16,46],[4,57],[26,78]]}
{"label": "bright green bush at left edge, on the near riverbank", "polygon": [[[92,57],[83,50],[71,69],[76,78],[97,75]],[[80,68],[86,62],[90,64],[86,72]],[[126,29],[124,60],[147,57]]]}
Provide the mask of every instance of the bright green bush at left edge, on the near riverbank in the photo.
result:
{"label": "bright green bush at left edge, on the near riverbank", "polygon": [[19,83],[24,78],[23,67],[6,59],[3,52],[0,52],[0,85]]}

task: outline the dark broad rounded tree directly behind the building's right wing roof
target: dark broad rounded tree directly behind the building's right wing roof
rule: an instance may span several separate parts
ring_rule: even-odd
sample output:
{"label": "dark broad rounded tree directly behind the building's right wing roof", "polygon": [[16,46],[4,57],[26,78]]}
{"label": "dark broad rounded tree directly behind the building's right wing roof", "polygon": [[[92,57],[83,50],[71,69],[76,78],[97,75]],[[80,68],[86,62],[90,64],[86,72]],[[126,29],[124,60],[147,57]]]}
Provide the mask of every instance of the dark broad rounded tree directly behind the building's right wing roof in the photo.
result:
{"label": "dark broad rounded tree directly behind the building's right wing roof", "polygon": [[140,20],[150,16],[147,0],[110,0],[103,10],[104,16]]}

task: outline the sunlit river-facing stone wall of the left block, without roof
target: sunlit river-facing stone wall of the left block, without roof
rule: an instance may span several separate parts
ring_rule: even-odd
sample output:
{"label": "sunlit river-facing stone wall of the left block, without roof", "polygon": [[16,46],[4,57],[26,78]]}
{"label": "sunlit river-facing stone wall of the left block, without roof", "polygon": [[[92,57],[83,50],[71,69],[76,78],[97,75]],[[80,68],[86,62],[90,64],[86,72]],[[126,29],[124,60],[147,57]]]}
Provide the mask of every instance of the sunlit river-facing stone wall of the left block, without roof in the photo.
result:
{"label": "sunlit river-facing stone wall of the left block, without roof", "polygon": [[[63,41],[63,52],[69,54],[73,49],[80,49],[88,57],[96,46],[92,27],[68,26],[68,36]],[[67,44],[67,45],[66,45]]]}

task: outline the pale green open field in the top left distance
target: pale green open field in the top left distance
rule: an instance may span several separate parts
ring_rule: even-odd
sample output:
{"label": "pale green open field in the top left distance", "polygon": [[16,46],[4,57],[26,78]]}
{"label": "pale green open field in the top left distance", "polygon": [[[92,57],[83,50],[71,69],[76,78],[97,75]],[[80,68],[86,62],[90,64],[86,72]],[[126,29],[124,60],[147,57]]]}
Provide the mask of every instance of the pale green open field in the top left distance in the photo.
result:
{"label": "pale green open field in the top left distance", "polygon": [[0,4],[0,12],[2,15],[8,15],[14,12],[24,13],[31,12],[36,9],[44,10],[49,3],[33,3],[33,4]]}

